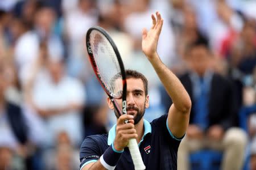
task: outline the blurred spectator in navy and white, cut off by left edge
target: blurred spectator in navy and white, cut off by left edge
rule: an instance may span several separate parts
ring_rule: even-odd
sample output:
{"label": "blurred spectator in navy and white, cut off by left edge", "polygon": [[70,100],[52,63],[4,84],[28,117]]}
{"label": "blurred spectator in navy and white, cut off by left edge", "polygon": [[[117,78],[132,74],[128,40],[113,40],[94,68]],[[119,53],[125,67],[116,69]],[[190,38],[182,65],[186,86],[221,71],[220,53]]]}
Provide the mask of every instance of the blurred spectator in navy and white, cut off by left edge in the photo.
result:
{"label": "blurred spectator in navy and white, cut off by left edge", "polygon": [[[1,58],[2,59],[2,58]],[[34,169],[35,141],[31,138],[32,121],[21,105],[6,99],[12,77],[0,61],[0,169]],[[16,158],[16,159],[14,159]]]}

